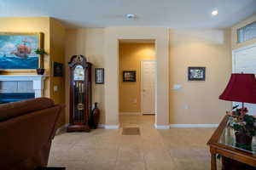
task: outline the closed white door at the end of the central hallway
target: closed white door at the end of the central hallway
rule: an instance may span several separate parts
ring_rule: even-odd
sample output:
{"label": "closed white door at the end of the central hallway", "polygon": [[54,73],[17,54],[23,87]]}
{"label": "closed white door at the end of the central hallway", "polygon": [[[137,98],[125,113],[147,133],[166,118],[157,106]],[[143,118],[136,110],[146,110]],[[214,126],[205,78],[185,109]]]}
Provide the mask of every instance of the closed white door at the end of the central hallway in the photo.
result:
{"label": "closed white door at the end of the central hallway", "polygon": [[141,81],[142,113],[143,115],[155,114],[155,60],[143,60],[141,62]]}

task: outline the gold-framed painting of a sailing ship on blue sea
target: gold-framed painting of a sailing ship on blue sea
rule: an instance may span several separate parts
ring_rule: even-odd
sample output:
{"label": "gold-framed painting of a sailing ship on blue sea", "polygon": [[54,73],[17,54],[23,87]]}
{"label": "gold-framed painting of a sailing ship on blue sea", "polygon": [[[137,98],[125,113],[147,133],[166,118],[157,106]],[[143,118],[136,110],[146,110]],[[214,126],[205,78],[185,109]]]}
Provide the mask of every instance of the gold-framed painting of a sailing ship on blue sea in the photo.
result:
{"label": "gold-framed painting of a sailing ship on blue sea", "polygon": [[43,33],[0,32],[0,71],[33,71],[43,66]]}

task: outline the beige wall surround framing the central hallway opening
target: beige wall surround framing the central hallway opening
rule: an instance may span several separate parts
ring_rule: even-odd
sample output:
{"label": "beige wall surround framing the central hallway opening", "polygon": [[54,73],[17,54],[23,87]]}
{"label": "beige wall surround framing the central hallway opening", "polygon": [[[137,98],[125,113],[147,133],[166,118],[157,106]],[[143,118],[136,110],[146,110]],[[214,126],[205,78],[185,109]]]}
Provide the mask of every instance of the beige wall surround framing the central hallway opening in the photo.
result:
{"label": "beige wall surround framing the central hallway opening", "polygon": [[119,128],[119,41],[153,40],[156,59],[156,116],[154,127],[170,128],[169,121],[169,28],[107,27],[104,29],[105,128]]}

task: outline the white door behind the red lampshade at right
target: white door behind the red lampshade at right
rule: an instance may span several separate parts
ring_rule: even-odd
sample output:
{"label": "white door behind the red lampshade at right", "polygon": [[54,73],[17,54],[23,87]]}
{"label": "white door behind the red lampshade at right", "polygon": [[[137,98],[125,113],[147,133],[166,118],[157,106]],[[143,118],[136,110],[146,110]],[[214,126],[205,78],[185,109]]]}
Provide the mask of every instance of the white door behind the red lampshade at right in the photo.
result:
{"label": "white door behind the red lampshade at right", "polygon": [[[256,44],[247,48],[236,49],[233,51],[233,72],[234,73],[253,73],[256,74]],[[233,102],[233,105],[241,103]],[[245,103],[249,114],[256,116],[256,105]]]}

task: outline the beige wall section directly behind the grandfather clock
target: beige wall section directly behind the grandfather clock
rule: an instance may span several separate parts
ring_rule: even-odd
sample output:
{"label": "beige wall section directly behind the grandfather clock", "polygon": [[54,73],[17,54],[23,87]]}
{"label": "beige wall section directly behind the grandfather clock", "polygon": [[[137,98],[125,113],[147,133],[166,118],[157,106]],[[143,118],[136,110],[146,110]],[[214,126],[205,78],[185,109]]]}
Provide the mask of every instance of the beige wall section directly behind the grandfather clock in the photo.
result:
{"label": "beige wall section directly behind the grandfather clock", "polygon": [[[92,63],[92,100],[98,102],[101,110],[100,123],[105,122],[104,84],[95,84],[95,68],[104,67],[104,29],[69,29],[67,30],[65,62],[69,62],[74,54],[83,54]],[[66,105],[69,121],[69,71],[66,65]]]}

